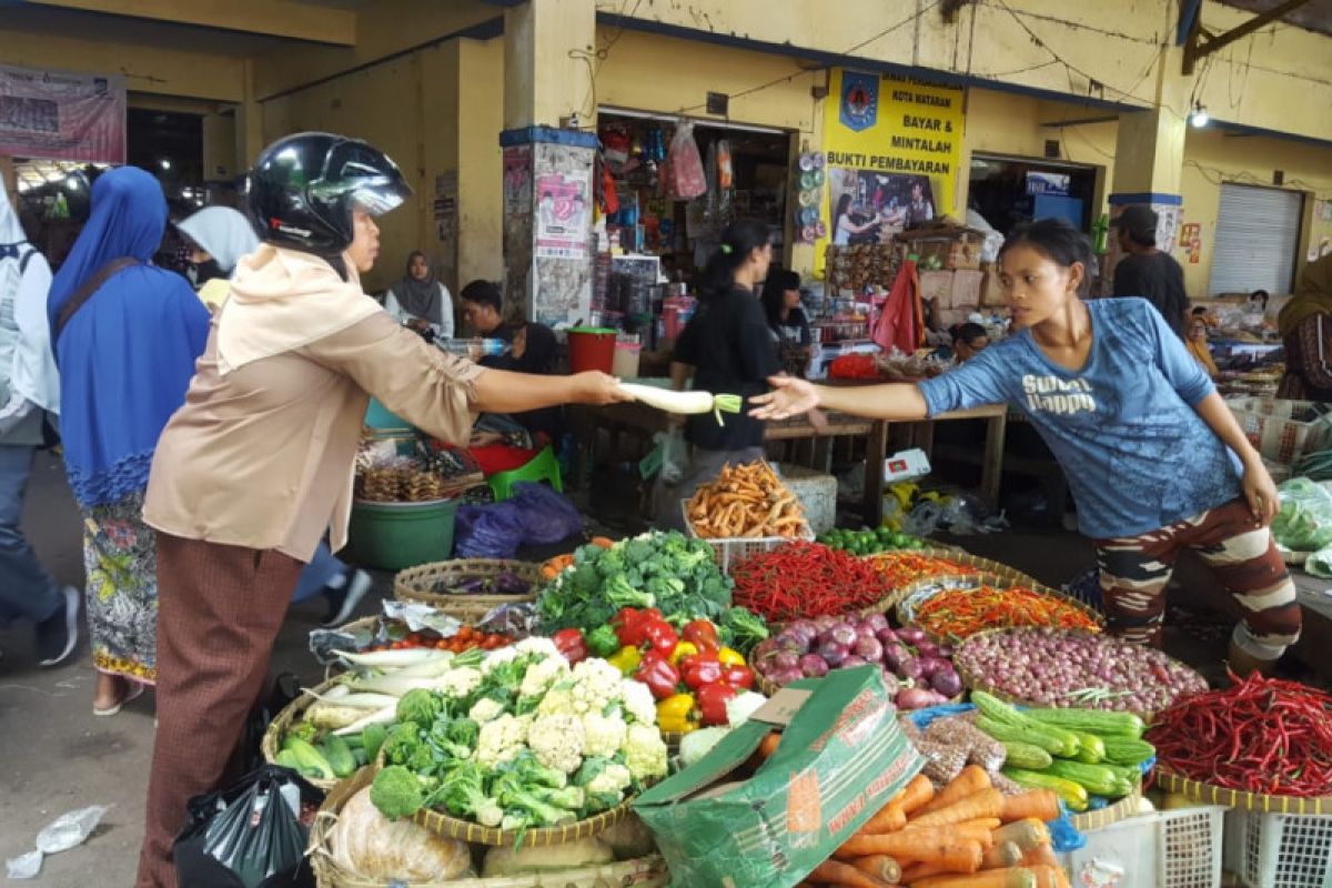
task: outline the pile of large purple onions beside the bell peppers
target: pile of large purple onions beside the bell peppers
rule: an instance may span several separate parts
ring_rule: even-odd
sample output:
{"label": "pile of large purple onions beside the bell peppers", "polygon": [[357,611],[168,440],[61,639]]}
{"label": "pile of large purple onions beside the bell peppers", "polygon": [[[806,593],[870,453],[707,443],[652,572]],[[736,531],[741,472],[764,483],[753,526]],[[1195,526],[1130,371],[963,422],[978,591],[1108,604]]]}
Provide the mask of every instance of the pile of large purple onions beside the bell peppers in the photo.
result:
{"label": "pile of large purple onions beside the bell peppers", "polygon": [[896,707],[919,710],[962,694],[951,656],[950,646],[930,642],[920,628],[890,628],[883,614],[848,614],[795,620],[759,643],[751,662],[778,686],[821,678],[830,670],[878,666]]}

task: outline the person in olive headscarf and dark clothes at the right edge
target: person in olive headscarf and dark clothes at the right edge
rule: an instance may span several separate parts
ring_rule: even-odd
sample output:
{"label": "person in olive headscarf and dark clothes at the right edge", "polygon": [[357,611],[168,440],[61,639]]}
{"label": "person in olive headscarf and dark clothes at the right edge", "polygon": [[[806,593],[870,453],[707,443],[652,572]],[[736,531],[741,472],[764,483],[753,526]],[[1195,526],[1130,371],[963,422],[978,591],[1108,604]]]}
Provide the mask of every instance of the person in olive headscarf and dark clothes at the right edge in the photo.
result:
{"label": "person in olive headscarf and dark clothes at the right edge", "polygon": [[1304,268],[1276,322],[1285,345],[1276,397],[1332,401],[1332,253]]}

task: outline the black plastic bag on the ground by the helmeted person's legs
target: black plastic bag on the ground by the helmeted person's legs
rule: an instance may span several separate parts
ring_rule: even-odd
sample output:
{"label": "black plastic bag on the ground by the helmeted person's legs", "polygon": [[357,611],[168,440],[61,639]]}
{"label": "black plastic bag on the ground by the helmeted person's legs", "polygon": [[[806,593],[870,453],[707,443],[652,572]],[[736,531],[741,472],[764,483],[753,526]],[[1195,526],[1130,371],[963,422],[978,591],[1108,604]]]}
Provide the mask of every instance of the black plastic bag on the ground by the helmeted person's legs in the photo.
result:
{"label": "black plastic bag on the ground by the helmeted person's legs", "polygon": [[314,888],[300,811],[322,800],[298,774],[274,764],[194,796],[172,849],[177,880],[189,888]]}

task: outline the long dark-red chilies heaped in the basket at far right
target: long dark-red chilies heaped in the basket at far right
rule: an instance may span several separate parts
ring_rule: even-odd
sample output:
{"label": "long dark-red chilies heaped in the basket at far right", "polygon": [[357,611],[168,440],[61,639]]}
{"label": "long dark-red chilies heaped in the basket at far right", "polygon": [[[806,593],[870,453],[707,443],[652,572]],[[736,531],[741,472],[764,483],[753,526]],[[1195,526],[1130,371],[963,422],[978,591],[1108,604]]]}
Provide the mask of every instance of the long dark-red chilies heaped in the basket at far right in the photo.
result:
{"label": "long dark-red chilies heaped in the basket at far right", "polygon": [[1332,795],[1332,695],[1257,674],[1231,680],[1156,715],[1144,739],[1159,763],[1227,789]]}

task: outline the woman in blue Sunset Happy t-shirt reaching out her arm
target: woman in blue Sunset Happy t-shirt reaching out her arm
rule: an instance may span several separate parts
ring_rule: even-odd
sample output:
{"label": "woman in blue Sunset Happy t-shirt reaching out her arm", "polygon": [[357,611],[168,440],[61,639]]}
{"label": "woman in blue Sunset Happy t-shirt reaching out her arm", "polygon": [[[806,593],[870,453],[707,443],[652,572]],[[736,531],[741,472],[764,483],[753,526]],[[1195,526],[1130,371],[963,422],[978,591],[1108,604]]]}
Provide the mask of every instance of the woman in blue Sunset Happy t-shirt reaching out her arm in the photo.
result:
{"label": "woman in blue Sunset Happy t-shirt reaching out her arm", "polygon": [[1108,630],[1158,644],[1166,584],[1192,549],[1243,612],[1231,667],[1265,670],[1296,642],[1295,584],[1267,526],[1280,506],[1263,459],[1166,320],[1139,298],[1080,298],[1094,261],[1063,220],[1019,228],[1000,252],[1014,328],[952,373],[835,389],[774,378],[755,418],[827,406],[896,421],[1008,402],[1068,475],[1096,543]]}

